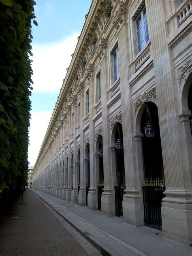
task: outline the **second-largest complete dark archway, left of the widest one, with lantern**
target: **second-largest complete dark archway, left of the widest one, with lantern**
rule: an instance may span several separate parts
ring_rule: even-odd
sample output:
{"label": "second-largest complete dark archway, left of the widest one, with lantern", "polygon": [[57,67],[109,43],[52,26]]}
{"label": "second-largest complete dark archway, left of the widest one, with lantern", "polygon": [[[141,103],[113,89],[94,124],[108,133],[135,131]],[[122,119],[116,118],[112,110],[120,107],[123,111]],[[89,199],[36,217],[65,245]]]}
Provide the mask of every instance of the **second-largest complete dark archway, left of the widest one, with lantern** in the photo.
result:
{"label": "second-largest complete dark archway, left of the widest one, with lantern", "polygon": [[123,195],[125,190],[125,167],[123,149],[122,124],[115,126],[115,158],[116,158],[116,178],[115,182],[115,212],[116,216],[123,215]]}

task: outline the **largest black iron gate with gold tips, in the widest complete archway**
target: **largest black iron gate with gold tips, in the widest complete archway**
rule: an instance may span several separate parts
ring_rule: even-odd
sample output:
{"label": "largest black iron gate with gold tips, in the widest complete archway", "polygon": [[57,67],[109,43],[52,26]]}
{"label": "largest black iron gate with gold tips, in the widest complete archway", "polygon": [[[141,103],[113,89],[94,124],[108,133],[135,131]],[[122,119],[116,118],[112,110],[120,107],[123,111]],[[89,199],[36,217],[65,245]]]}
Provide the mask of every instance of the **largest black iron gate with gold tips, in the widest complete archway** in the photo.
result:
{"label": "largest black iron gate with gold tips, in the widest complete archway", "polygon": [[161,201],[164,198],[164,181],[161,178],[146,178],[142,189],[145,225],[162,230]]}

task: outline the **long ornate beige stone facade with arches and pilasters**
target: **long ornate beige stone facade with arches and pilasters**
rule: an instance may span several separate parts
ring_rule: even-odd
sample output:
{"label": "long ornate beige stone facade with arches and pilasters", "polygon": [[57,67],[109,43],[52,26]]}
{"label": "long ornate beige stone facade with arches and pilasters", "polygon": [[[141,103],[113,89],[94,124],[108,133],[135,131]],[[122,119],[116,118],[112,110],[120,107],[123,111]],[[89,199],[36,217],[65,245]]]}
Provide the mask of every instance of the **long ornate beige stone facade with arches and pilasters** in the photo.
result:
{"label": "long ornate beige stone facade with arches and pilasters", "polygon": [[93,0],[35,189],[192,244],[191,13],[191,0]]}

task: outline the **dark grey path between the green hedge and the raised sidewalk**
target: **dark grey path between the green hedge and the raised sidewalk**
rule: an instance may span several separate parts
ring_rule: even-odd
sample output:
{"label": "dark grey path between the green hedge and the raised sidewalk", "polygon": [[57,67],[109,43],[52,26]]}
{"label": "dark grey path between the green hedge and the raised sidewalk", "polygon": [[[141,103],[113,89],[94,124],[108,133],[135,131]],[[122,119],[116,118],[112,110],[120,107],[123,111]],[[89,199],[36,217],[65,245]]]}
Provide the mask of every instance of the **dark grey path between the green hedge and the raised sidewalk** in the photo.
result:
{"label": "dark grey path between the green hedge and the raised sidewalk", "polygon": [[30,188],[23,198],[0,216],[0,256],[101,255]]}

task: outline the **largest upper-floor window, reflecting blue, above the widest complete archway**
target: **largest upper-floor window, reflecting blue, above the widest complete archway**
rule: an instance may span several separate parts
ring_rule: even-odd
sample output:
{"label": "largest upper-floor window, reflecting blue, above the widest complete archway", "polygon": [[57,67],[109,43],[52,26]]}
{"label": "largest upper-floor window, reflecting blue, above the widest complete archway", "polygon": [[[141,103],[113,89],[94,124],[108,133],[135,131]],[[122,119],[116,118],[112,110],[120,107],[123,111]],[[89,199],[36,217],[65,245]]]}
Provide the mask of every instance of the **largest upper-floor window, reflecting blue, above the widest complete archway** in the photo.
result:
{"label": "largest upper-floor window, reflecting blue, above the widest complete archway", "polygon": [[147,13],[144,8],[136,18],[136,32],[137,32],[137,48],[140,52],[146,43],[149,41],[149,31],[147,25]]}

